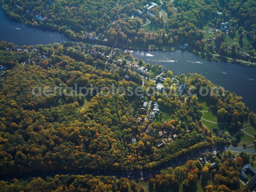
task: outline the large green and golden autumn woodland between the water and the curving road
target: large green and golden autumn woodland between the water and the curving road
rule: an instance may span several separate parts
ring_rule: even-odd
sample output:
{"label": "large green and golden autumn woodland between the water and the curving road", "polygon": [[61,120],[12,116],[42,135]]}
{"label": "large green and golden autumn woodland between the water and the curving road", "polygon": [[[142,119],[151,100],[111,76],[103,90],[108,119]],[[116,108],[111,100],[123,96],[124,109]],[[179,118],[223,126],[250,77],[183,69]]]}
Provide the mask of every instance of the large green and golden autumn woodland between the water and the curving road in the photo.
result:
{"label": "large green and golden autumn woodland between the water and the curving road", "polygon": [[[135,95],[128,97],[127,93],[117,95],[116,92],[96,95],[90,84],[99,88],[110,88],[114,84],[115,87],[130,86],[135,89],[141,83],[141,76],[128,70],[127,65],[115,67],[108,62],[106,64],[103,58],[86,55],[80,46],[74,45],[23,46],[22,49],[28,52],[16,52],[6,49],[17,46],[1,42],[0,61],[9,69],[0,92],[1,175],[80,169],[148,170],[192,149],[213,143],[231,143],[229,138],[215,137],[202,125],[202,103],[196,96],[187,96],[184,101],[184,95],[173,93],[167,97],[157,92],[151,100],[157,101],[162,108],[159,117],[152,123],[148,120],[138,123],[138,117],[146,118],[140,113],[144,102],[141,98]],[[108,51],[106,47],[95,48]],[[36,59],[43,54],[49,57]],[[120,53],[121,56],[126,59],[131,57],[129,52]],[[26,63],[25,58],[30,63]],[[26,64],[20,64],[21,61]],[[133,80],[124,80],[125,74]],[[167,75],[172,73],[167,72]],[[199,74],[182,74],[176,78],[187,82],[189,87],[197,87],[197,90],[202,86],[208,89],[213,86]],[[144,89],[151,82],[147,80]],[[80,97],[79,94],[33,96],[31,93],[34,86],[53,88],[61,84],[62,87],[72,87],[75,83],[89,87],[93,97]],[[218,116],[229,123],[230,133],[240,132],[243,123],[248,120],[255,124],[255,114],[249,112],[241,97],[235,93],[225,91],[222,96],[221,91],[219,95],[214,92],[206,99],[211,108],[218,111]],[[164,120],[166,115],[169,117]],[[147,128],[153,133],[146,134]],[[161,141],[158,132],[162,129],[176,134],[177,139],[163,148],[157,148]],[[132,138],[136,138],[137,142],[131,144]]]}

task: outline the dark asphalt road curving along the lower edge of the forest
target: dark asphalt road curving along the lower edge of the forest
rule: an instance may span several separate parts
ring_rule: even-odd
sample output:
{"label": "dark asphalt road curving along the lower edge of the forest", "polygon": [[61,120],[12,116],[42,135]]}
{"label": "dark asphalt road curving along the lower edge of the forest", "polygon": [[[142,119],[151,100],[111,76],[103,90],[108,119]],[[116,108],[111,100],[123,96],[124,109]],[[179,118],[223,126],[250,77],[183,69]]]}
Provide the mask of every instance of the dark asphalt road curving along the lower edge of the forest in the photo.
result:
{"label": "dark asphalt road curving along the lower edge of the forest", "polygon": [[[208,151],[207,151],[208,150]],[[151,177],[154,177],[156,174],[159,174],[162,169],[168,168],[168,167],[178,167],[186,162],[188,162],[190,159],[199,157],[201,153],[206,153],[206,152],[214,152],[214,151],[228,151],[231,150],[232,152],[238,152],[240,153],[241,151],[244,151],[246,153],[255,153],[255,150],[252,149],[243,149],[239,147],[219,147],[219,146],[210,146],[210,147],[205,147],[202,148],[198,151],[190,152],[185,154],[183,157],[179,157],[178,159],[166,163],[160,167],[151,169],[151,170],[143,170],[142,172],[113,172],[113,171],[88,171],[88,170],[79,170],[79,171],[59,171],[59,172],[36,172],[36,173],[30,173],[30,174],[22,174],[22,175],[13,175],[13,176],[1,176],[0,180],[3,181],[9,181],[14,178],[16,179],[27,179],[29,177],[54,177],[55,175],[65,175],[65,174],[70,174],[70,175],[87,175],[91,174],[93,176],[115,176],[115,177],[126,177],[129,180],[143,180],[143,179],[148,179]]]}

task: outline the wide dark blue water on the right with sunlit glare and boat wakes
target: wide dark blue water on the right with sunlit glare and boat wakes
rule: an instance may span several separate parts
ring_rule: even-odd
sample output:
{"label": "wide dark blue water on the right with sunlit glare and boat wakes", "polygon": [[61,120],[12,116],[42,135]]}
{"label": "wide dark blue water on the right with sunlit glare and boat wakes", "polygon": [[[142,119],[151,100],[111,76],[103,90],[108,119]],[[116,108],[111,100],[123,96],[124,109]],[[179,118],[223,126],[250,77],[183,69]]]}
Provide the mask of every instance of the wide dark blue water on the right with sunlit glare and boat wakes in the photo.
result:
{"label": "wide dark blue water on the right with sunlit glare and boat wakes", "polygon": [[[250,111],[256,112],[256,68],[244,67],[238,64],[208,61],[201,59],[188,51],[174,52],[144,52],[131,51],[131,54],[145,63],[159,64],[174,75],[198,73],[212,83],[224,87],[243,97],[243,102]],[[154,57],[153,57],[154,55]],[[174,61],[177,62],[174,62]]]}

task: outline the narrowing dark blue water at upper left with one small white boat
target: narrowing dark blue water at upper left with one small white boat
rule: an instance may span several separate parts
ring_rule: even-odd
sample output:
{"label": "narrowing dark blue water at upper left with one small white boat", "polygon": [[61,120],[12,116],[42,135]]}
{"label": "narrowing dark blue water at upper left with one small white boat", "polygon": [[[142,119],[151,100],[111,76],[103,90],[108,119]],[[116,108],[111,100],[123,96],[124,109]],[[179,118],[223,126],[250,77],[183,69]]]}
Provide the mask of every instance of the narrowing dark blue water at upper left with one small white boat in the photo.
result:
{"label": "narrowing dark blue water at upper left with one small white boat", "polygon": [[[21,30],[17,30],[20,28]],[[23,33],[24,32],[24,33]],[[52,35],[52,36],[50,36]],[[63,34],[29,27],[8,19],[0,8],[0,40],[13,42],[16,45],[52,44],[54,42],[71,41]]]}

